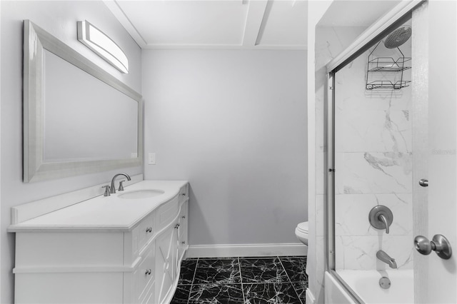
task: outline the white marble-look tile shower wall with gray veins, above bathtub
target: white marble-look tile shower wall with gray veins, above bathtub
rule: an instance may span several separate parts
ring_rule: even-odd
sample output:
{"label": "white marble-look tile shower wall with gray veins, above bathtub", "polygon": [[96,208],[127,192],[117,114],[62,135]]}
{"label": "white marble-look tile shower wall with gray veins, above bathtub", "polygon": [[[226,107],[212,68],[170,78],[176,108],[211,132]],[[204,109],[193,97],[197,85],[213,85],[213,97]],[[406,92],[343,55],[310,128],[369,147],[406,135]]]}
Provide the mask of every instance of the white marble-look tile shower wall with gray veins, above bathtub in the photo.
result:
{"label": "white marble-look tile shower wall with gray veins, above bathtub", "polygon": [[[335,78],[337,270],[388,268],[376,259],[378,250],[395,258],[398,268],[412,268],[411,86],[366,90],[372,49],[338,71]],[[411,54],[411,42],[401,46],[401,51],[405,56]],[[400,54],[380,44],[376,55]],[[411,79],[411,70],[404,76]],[[368,222],[368,213],[376,205],[393,212],[389,234]]]}

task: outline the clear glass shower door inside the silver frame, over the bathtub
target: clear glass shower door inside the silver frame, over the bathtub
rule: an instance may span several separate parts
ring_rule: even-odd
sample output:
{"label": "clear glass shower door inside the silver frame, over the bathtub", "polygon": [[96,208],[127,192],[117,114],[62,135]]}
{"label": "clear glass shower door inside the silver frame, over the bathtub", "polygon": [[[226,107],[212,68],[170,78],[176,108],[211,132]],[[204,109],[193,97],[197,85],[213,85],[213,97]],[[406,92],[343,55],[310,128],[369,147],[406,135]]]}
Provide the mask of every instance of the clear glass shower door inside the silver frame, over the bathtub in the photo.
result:
{"label": "clear glass shower door inside the silver frame, over the bathtub", "polygon": [[[396,29],[411,25],[405,19]],[[413,301],[411,44],[373,41],[332,74],[334,270],[365,303]],[[370,217],[379,208],[388,229],[370,219],[380,221]],[[408,280],[399,284],[398,275]],[[390,290],[381,289],[383,277]]]}

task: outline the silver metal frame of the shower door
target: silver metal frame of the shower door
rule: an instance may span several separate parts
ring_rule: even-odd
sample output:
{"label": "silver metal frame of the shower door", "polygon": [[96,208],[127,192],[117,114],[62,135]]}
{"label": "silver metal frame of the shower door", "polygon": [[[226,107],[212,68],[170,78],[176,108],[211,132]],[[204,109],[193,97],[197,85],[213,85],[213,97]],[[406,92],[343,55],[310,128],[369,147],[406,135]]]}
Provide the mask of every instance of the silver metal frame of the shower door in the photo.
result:
{"label": "silver metal frame of the shower door", "polygon": [[367,51],[371,46],[380,41],[389,32],[401,26],[406,20],[411,19],[413,9],[420,6],[426,0],[403,1],[386,15],[378,19],[372,26],[364,31],[341,54],[336,56],[326,65],[326,89],[324,90],[324,102],[326,121],[324,121],[324,132],[326,134],[326,271],[341,284],[348,295],[356,303],[363,303],[363,300],[346,284],[336,273],[335,262],[335,74],[347,64],[351,63],[358,56]]}

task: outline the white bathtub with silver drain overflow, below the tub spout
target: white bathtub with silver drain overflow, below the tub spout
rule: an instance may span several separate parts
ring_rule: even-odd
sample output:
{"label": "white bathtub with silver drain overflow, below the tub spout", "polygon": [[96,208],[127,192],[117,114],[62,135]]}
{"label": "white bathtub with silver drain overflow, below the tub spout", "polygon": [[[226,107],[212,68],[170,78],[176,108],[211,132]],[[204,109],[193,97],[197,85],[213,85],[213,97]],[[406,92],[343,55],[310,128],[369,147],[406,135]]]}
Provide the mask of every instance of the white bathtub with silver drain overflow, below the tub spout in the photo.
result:
{"label": "white bathtub with silver drain overflow, below the tub spout", "polygon": [[[363,303],[414,303],[413,270],[338,270],[337,275]],[[391,280],[391,288],[379,286],[379,279]],[[326,303],[358,303],[332,273],[325,275]]]}

